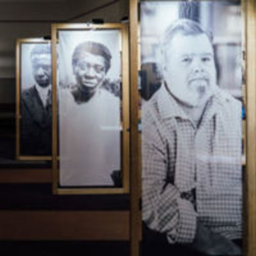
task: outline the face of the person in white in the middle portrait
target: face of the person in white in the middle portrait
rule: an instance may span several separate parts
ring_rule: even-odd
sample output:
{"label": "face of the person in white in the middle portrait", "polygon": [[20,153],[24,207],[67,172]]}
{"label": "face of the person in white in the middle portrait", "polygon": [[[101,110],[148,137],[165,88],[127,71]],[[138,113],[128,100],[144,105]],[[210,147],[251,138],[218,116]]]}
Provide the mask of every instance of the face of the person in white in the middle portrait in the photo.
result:
{"label": "face of the person in white in the middle portrait", "polygon": [[96,88],[106,75],[104,57],[84,52],[74,67],[74,75],[82,88]]}

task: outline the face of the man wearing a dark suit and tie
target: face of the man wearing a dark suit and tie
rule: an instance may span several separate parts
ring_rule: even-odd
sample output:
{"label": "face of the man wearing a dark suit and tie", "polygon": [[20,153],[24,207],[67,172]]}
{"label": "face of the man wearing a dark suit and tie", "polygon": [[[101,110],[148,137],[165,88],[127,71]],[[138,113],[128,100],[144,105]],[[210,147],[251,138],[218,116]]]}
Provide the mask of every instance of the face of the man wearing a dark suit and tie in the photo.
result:
{"label": "face of the man wearing a dark suit and tie", "polygon": [[36,83],[44,88],[49,86],[51,84],[51,54],[34,54],[31,61]]}

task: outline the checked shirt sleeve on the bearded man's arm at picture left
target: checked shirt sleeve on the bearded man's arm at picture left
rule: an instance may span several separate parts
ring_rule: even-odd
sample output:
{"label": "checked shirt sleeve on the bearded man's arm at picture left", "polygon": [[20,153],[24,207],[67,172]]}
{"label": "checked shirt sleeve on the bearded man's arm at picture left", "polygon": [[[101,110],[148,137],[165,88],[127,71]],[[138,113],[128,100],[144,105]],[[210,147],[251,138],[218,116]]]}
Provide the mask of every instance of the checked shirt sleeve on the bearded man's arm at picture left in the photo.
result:
{"label": "checked shirt sleeve on the bearded man's arm at picture left", "polygon": [[194,205],[181,198],[179,189],[170,182],[175,173],[174,166],[168,166],[174,161],[168,157],[174,160],[176,152],[169,152],[173,149],[168,148],[163,127],[157,124],[154,112],[148,109],[143,113],[143,220],[148,227],[166,234],[170,243],[192,243],[196,231]]}

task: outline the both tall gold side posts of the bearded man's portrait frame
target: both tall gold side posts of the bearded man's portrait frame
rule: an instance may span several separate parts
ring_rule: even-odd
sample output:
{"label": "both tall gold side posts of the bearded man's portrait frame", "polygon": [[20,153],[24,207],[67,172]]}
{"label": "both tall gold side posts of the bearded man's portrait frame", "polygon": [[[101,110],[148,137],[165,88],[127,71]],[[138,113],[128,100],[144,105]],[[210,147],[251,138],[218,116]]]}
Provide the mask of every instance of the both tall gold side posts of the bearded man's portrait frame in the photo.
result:
{"label": "both tall gold side posts of the bearded man's portrait frame", "polygon": [[[140,172],[141,153],[138,133],[138,3],[129,1],[131,48],[131,256],[140,255],[141,212]],[[211,1],[211,0],[210,0]],[[244,22],[245,76],[246,76],[246,172],[244,173],[243,255],[256,255],[256,1],[241,0],[241,17]]]}

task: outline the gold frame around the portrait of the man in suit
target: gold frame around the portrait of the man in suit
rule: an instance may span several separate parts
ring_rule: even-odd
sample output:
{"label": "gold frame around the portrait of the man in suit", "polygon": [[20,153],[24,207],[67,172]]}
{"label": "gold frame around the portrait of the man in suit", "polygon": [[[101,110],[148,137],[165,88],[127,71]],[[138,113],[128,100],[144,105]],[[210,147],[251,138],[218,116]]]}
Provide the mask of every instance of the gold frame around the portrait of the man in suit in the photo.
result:
{"label": "gold frame around the portrait of the man in suit", "polygon": [[16,148],[15,157],[17,160],[31,160],[31,161],[47,161],[51,160],[51,156],[22,156],[20,155],[20,61],[21,61],[21,45],[22,44],[49,44],[51,40],[44,40],[42,38],[20,38],[16,41]]}

